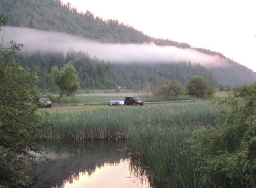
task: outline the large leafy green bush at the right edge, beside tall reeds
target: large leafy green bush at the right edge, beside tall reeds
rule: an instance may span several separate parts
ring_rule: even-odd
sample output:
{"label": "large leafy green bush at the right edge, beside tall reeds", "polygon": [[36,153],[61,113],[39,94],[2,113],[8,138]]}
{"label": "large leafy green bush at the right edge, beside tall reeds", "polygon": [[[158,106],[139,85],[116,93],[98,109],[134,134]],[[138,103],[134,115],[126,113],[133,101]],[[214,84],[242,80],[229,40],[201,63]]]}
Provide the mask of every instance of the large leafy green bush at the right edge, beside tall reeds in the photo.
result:
{"label": "large leafy green bush at the right edge, beside tall reeds", "polygon": [[221,102],[229,108],[219,126],[194,132],[197,171],[205,185],[255,187],[256,82],[235,88],[233,97]]}

